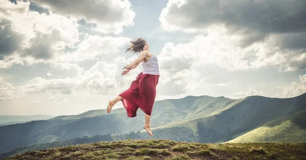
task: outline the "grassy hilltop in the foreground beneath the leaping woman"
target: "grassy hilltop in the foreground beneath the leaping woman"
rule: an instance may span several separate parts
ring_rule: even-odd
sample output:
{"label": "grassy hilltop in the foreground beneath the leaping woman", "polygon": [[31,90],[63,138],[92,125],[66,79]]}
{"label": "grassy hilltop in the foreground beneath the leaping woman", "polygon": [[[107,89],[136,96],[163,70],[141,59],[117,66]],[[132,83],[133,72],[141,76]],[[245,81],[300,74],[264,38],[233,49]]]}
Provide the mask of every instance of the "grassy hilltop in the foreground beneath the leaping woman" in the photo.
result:
{"label": "grassy hilltop in the foreground beneath the leaping woman", "polygon": [[202,144],[126,140],[28,151],[8,159],[305,159],[306,143]]}

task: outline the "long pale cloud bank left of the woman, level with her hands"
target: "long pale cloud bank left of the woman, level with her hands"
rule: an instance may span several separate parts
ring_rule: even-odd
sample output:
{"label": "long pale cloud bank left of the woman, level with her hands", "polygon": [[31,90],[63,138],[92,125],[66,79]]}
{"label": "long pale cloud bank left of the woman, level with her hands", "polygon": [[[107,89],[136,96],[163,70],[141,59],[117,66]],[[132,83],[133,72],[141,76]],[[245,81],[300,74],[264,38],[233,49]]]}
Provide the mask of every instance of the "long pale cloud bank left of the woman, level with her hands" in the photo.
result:
{"label": "long pale cloud bank left of the woman, level with her hands", "polygon": [[91,94],[118,94],[127,89],[131,80],[134,80],[140,72],[138,67],[128,75],[121,76],[122,66],[132,63],[136,58],[137,56],[133,56],[126,60],[119,57],[112,63],[97,61],[88,70],[84,70],[78,64],[54,62],[47,73],[51,79],[35,77],[20,86],[20,90],[24,94],[46,92],[72,94],[88,93],[88,91]]}

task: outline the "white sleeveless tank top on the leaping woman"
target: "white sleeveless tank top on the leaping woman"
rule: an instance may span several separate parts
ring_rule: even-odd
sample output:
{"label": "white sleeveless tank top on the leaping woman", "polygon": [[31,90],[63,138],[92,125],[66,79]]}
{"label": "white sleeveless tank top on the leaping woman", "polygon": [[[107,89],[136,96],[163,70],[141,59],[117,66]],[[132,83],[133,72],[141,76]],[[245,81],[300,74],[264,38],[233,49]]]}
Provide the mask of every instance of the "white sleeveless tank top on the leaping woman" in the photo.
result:
{"label": "white sleeveless tank top on the leaping woman", "polygon": [[142,62],[142,67],[143,74],[159,75],[159,65],[155,55],[153,55],[146,63]]}

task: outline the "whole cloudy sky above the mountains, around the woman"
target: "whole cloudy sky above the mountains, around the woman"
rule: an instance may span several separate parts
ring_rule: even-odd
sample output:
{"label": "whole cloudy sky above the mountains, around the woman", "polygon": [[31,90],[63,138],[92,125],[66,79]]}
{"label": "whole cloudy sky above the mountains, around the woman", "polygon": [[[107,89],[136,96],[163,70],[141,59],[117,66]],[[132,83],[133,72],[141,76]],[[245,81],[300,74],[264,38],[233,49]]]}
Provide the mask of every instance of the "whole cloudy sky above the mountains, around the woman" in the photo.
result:
{"label": "whole cloudy sky above the mountains, around the woman", "polygon": [[2,0],[0,115],[106,109],[141,72],[121,76],[139,37],[158,57],[156,100],[295,97],[306,92],[304,15],[304,0]]}

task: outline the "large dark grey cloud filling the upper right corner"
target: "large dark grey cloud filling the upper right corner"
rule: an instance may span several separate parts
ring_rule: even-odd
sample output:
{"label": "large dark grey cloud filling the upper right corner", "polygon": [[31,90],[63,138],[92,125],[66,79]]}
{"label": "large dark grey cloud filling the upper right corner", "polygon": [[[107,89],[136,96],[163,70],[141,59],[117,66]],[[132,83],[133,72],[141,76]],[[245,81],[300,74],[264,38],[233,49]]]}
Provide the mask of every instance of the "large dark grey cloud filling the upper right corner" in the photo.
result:
{"label": "large dark grey cloud filling the upper right corner", "polygon": [[224,23],[253,32],[287,33],[306,31],[305,15],[304,0],[193,0],[181,7],[170,6],[166,20],[183,28]]}

